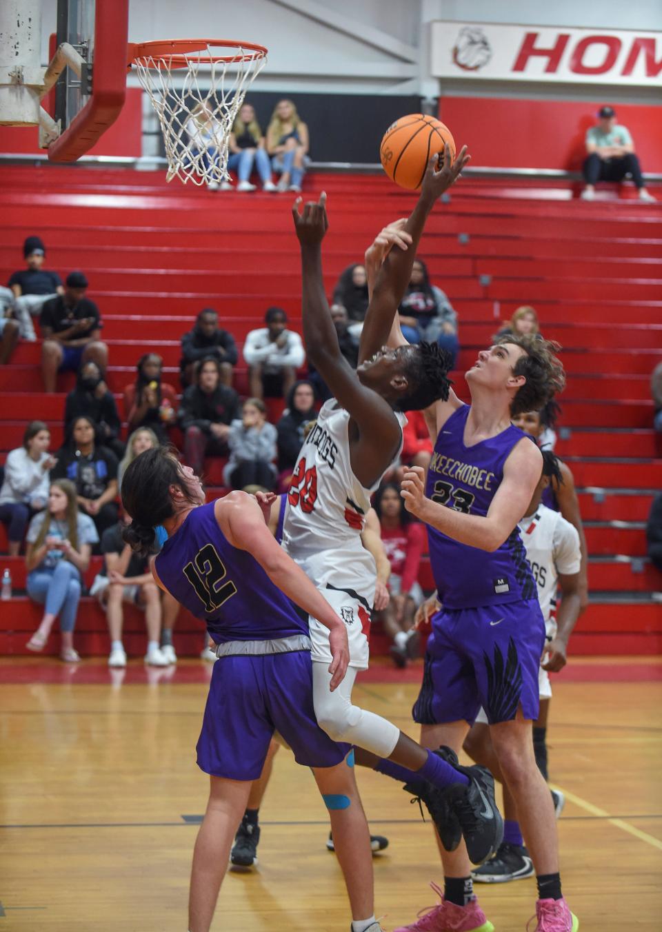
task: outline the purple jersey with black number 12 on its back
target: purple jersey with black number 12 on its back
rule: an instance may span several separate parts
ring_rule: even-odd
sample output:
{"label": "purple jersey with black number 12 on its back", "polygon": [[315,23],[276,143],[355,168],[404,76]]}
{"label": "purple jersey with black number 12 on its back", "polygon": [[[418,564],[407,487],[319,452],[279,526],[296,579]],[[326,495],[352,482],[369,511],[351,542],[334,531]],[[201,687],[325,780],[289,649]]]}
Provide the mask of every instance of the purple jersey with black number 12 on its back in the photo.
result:
{"label": "purple jersey with black number 12 on its back", "polygon": [[214,502],[195,508],[157,556],[159,580],[217,644],[308,635],[290,599],[255,557],[228,543]]}

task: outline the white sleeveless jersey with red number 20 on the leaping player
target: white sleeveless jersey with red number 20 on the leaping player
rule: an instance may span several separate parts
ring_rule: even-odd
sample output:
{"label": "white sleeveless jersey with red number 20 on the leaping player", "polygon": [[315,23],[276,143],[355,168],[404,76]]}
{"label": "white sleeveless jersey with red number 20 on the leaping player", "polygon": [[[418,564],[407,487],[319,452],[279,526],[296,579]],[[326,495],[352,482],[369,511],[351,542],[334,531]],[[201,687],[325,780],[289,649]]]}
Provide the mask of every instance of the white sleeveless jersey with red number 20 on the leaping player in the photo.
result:
{"label": "white sleeveless jersey with red number 20 on the leaping player", "polygon": [[[400,426],[404,414],[395,412]],[[331,398],[320,408],[315,426],[301,447],[290,485],[283,523],[283,547],[320,586],[328,578],[368,591],[372,606],[375,561],[361,544],[370,496],[352,472],[350,413]],[[397,457],[400,450],[397,451]],[[349,581],[349,582],[348,582]]]}

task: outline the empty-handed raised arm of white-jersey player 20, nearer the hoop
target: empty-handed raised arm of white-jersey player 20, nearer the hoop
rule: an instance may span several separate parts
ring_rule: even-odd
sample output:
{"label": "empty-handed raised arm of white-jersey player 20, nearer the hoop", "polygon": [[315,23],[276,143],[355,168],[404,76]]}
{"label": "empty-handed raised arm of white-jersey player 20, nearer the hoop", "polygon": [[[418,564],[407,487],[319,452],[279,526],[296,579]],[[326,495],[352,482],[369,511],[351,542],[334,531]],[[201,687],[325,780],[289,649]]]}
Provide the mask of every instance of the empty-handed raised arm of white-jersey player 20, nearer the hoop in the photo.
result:
{"label": "empty-handed raised arm of white-jersey player 20, nearer the hoop", "polygon": [[402,439],[393,409],[376,391],[361,384],[338,347],[322,276],[322,240],[328,228],[326,196],[307,203],[299,213],[301,199],[293,208],[297,238],[301,246],[303,338],[310,362],[324,378],[338,404],[350,412],[359,427],[357,478],[371,486],[392,461]]}

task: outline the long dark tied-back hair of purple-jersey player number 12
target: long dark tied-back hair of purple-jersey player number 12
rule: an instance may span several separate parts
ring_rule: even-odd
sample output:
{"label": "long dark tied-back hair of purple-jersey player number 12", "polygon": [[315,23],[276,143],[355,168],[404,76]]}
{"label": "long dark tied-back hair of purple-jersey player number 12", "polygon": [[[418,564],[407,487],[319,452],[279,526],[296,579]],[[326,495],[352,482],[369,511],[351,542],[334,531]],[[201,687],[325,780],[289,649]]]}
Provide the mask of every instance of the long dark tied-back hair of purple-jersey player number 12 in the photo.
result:
{"label": "long dark tied-back hair of purple-jersey player number 12", "polygon": [[174,514],[171,486],[181,488],[186,500],[196,503],[186,487],[173,446],[145,450],[133,459],[124,473],[122,506],[132,521],[123,528],[122,538],[135,553],[143,556],[154,553],[154,528]]}

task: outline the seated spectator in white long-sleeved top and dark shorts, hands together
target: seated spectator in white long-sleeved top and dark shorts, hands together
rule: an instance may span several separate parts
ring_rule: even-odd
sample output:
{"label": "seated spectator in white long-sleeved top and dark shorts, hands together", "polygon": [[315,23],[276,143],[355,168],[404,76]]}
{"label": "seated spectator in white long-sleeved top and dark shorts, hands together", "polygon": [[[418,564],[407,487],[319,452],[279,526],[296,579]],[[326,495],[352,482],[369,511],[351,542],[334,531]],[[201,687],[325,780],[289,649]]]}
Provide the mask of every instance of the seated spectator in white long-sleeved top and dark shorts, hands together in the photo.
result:
{"label": "seated spectator in white long-sleeved top and dark shorts, hands together", "polygon": [[254,398],[283,398],[295,384],[306,353],[301,337],[286,329],[283,308],[269,308],[265,323],[266,327],[251,330],[243,344],[243,358],[250,367],[250,391]]}

